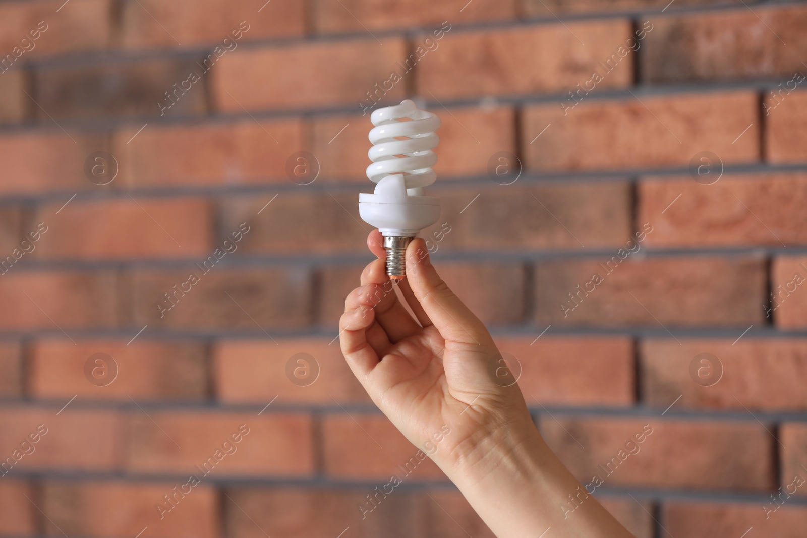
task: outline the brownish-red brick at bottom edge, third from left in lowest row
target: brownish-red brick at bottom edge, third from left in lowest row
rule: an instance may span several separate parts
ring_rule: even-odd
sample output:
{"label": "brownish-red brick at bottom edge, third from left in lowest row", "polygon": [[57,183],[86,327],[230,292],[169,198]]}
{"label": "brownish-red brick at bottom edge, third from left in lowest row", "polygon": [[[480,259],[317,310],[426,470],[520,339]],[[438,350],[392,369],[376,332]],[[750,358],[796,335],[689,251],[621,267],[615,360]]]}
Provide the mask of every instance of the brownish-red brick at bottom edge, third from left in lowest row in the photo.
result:
{"label": "brownish-red brick at bottom edge, third from left in lowest row", "polygon": [[[389,479],[378,482],[378,490]],[[418,532],[422,525],[415,499],[405,491],[393,490],[386,498],[379,494],[378,507],[362,518],[360,507],[371,506],[366,496],[376,493],[375,486],[228,490],[224,499],[226,533],[243,538],[335,538],[349,527],[345,536],[356,538],[426,536]]]}

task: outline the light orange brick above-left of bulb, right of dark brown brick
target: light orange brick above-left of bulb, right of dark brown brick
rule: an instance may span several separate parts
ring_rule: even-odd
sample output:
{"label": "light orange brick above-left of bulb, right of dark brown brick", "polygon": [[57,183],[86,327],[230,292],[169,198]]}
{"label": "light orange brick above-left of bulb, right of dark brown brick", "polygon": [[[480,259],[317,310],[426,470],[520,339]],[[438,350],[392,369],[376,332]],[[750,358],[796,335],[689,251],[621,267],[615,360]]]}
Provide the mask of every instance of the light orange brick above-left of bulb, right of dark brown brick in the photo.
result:
{"label": "light orange brick above-left of bulb, right of dark brown brick", "polygon": [[[260,110],[359,103],[375,90],[376,83],[382,87],[404,56],[399,39],[236,52],[223,56],[211,70],[214,100],[220,111],[238,113],[243,111],[241,106]],[[384,99],[395,102],[403,94],[403,82],[399,82]]]}

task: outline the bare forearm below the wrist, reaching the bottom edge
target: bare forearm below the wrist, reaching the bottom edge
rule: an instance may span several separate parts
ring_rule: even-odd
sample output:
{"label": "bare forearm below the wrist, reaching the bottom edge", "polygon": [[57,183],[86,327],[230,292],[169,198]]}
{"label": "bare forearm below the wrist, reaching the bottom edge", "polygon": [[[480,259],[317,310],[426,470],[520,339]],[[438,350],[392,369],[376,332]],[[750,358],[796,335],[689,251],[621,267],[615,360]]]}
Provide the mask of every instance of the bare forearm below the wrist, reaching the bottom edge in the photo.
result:
{"label": "bare forearm below the wrist, reaching the bottom edge", "polygon": [[[512,429],[521,430],[514,436]],[[631,536],[588,494],[541,439],[537,429],[508,428],[476,442],[472,452],[441,461],[499,538]]]}

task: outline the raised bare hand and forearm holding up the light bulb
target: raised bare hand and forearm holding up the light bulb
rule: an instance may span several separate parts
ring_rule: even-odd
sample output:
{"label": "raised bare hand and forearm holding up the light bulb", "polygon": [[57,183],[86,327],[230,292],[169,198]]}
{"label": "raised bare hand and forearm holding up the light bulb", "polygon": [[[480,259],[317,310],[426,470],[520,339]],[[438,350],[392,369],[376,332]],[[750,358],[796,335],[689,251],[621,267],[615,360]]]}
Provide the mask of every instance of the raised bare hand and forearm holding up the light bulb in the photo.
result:
{"label": "raised bare hand and forearm holding up the light bulb", "polygon": [[424,241],[409,244],[396,285],[414,317],[387,277],[381,234],[367,244],[378,260],[345,301],[341,348],[384,415],[500,538],[631,536],[541,439],[490,333],[445,286]]}

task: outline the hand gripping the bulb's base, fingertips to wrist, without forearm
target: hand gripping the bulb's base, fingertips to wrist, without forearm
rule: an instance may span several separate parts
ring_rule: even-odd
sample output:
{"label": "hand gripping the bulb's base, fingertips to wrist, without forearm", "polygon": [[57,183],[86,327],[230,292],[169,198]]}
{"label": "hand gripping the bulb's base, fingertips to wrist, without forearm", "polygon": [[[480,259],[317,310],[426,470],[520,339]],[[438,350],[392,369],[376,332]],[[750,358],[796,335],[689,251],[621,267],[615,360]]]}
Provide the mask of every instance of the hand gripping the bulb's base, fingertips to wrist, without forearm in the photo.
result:
{"label": "hand gripping the bulb's base, fingertips to wrist, without forearm", "polygon": [[345,301],[341,348],[378,408],[446,472],[478,465],[492,444],[515,448],[537,436],[490,333],[445,286],[424,241],[409,244],[397,284],[416,319],[387,277],[381,234],[367,244],[378,259]]}

